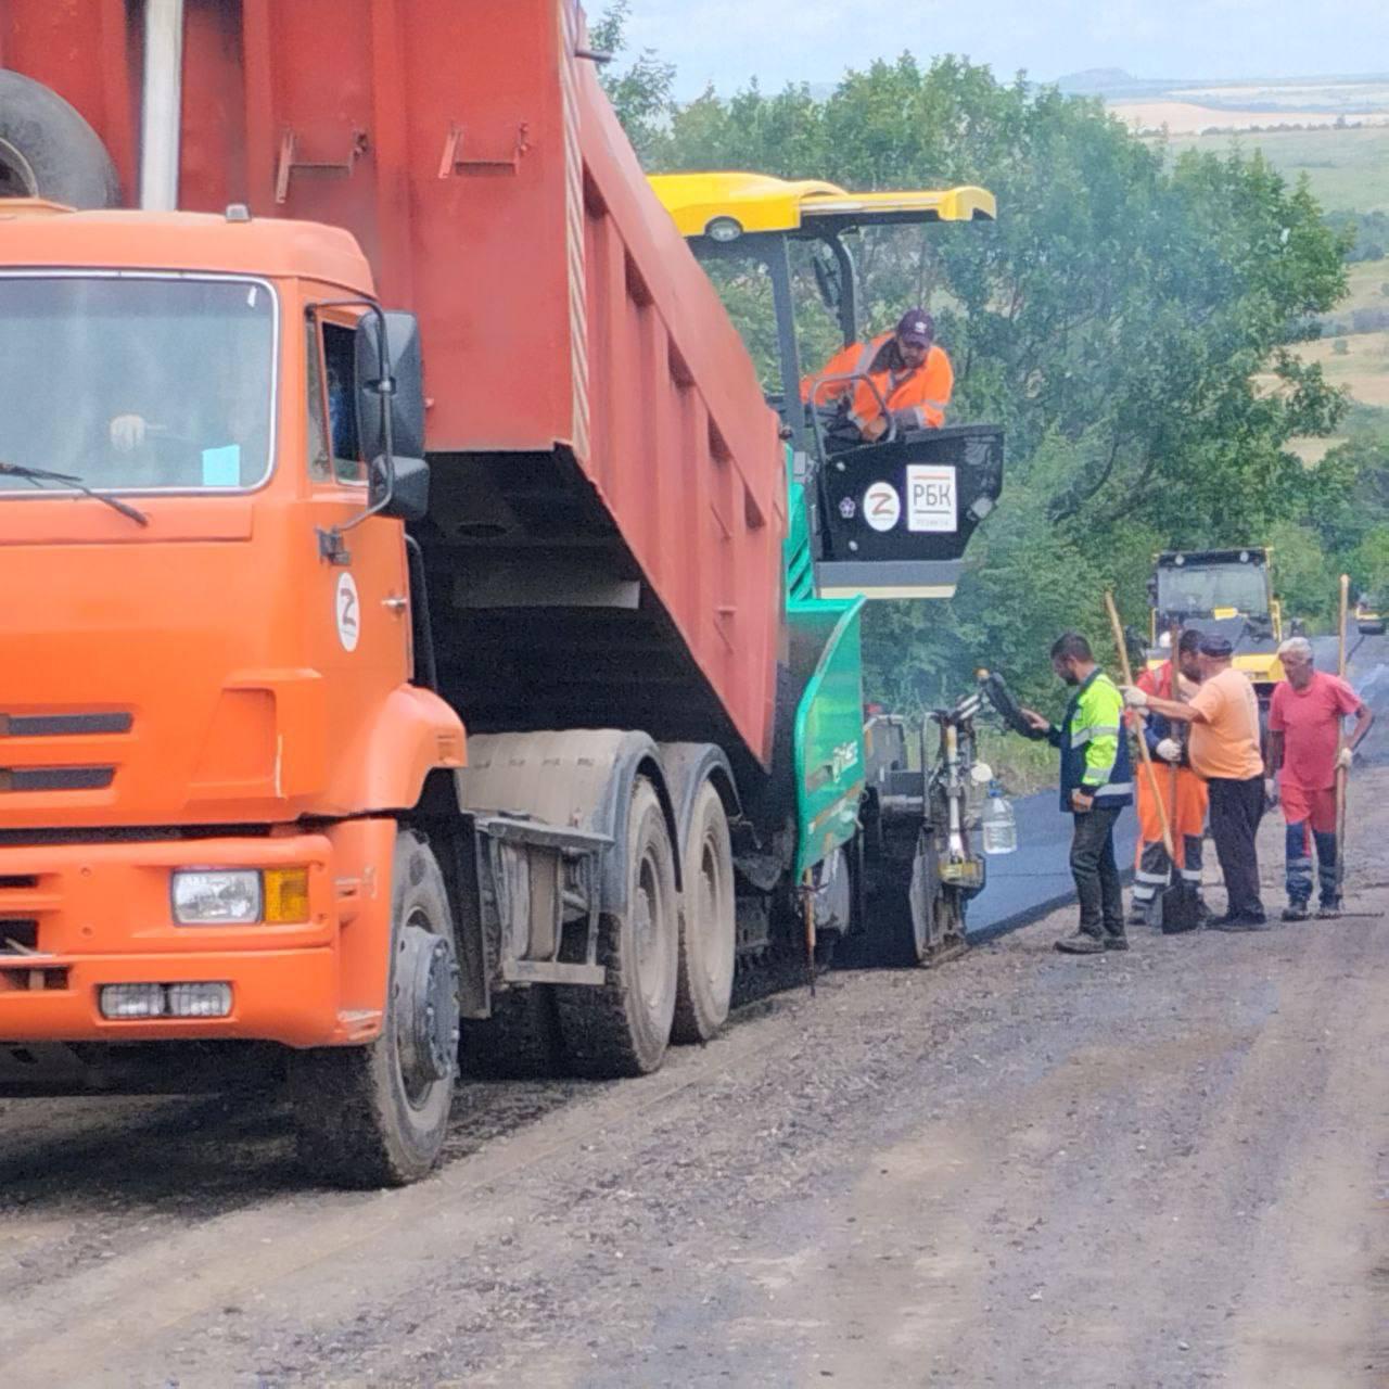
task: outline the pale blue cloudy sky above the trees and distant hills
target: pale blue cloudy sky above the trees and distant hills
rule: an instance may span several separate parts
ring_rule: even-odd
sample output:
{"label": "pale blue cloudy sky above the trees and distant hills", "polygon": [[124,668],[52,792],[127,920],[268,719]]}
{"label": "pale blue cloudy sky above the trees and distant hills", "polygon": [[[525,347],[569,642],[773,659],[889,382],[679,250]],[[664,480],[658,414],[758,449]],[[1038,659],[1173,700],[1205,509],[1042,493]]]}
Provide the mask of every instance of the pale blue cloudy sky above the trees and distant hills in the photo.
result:
{"label": "pale blue cloudy sky above the trees and distant hills", "polygon": [[[676,65],[676,96],[833,82],[910,49],[1000,76],[1085,68],[1139,78],[1274,78],[1389,69],[1389,0],[631,0],[633,47]],[[586,0],[601,14],[604,0]]]}

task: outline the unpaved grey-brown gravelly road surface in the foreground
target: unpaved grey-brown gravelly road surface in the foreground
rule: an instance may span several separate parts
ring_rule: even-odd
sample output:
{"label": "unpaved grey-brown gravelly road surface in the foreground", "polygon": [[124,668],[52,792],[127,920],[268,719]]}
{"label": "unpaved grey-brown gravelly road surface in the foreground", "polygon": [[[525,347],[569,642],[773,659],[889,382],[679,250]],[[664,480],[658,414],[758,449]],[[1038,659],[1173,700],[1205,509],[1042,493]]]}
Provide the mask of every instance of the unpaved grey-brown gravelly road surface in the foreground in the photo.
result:
{"label": "unpaved grey-brown gravelly road surface in the foreground", "polygon": [[1389,920],[1068,926],[467,1085],[404,1192],[308,1189],[272,1100],[4,1101],[4,1383],[1389,1383]]}

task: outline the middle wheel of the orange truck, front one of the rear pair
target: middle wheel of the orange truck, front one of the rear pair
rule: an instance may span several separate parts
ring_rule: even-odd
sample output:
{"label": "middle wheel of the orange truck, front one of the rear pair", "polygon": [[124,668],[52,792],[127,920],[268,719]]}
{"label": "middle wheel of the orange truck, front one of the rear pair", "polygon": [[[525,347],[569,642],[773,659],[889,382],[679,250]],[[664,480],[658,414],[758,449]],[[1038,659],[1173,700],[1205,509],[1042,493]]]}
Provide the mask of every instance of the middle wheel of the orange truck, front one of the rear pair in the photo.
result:
{"label": "middle wheel of the orange truck, front one of the rear pair", "polygon": [[597,986],[557,985],[564,1056],[576,1075],[608,1078],[656,1071],[671,1039],[679,972],[675,856],[656,788],[632,785],[628,804],[626,911],[599,922]]}

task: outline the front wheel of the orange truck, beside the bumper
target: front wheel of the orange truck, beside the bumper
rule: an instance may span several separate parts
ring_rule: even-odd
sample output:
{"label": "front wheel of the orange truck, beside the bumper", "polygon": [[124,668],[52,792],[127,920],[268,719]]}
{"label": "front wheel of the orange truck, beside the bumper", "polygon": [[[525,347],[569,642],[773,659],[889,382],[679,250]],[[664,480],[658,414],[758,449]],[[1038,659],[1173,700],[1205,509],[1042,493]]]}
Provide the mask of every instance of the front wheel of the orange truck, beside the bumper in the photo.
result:
{"label": "front wheel of the orange truck, beside the bumper", "polygon": [[290,1056],[300,1163],[342,1186],[404,1186],[439,1160],[458,1070],[458,963],[443,875],[410,831],[392,865],[390,979],[368,1046]]}

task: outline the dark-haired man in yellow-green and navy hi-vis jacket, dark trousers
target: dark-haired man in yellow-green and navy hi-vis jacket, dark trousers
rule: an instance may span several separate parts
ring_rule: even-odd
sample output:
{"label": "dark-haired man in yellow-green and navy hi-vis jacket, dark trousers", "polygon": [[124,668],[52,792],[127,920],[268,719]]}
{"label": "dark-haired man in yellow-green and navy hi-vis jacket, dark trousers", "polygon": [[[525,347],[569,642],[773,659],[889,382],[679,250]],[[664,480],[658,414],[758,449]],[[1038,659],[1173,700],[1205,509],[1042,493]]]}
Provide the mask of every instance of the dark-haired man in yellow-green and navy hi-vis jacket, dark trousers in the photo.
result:
{"label": "dark-haired man in yellow-green and navy hi-vis jacket, dark trousers", "polygon": [[1114,824],[1133,804],[1133,771],[1122,735],[1124,699],[1095,664],[1090,643],[1067,632],[1051,647],[1051,669],[1075,693],[1060,728],[1029,708],[1022,717],[1061,751],[1061,810],[1074,820],[1071,876],[1081,925],[1056,943],[1065,954],[1128,950],[1124,889],[1114,858]]}

